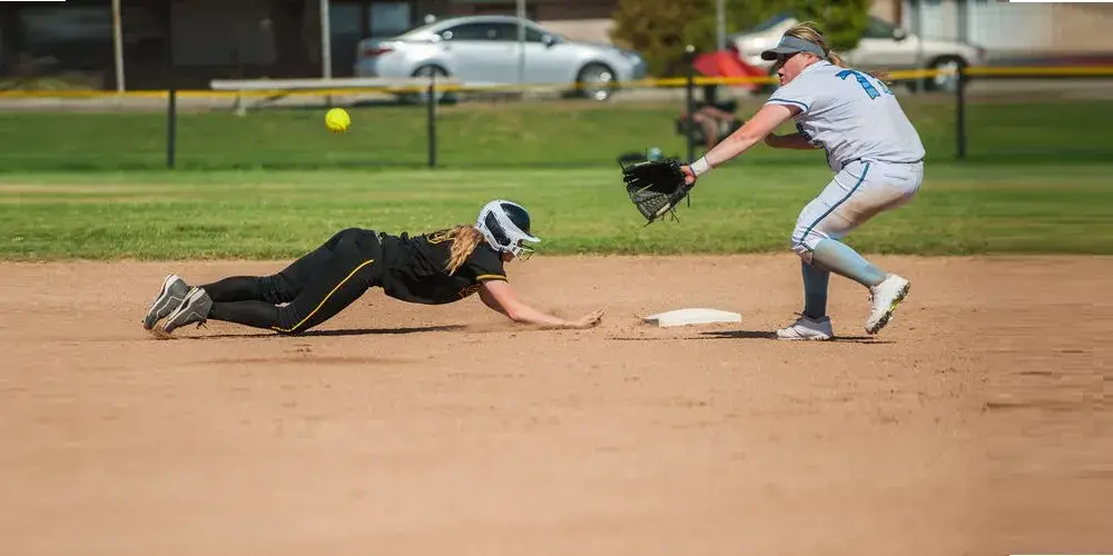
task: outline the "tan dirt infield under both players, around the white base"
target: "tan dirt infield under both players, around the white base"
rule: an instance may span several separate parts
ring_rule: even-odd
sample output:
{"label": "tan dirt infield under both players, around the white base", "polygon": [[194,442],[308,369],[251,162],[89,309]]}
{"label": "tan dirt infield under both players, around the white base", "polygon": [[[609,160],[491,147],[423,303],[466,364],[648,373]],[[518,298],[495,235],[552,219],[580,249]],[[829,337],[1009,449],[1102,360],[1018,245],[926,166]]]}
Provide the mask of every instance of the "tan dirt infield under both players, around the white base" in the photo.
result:
{"label": "tan dirt infield under both players, around the white base", "polygon": [[[879,258],[913,280],[866,338],[770,339],[791,254],[542,258],[523,297],[368,292],[319,330],[139,326],[167,271],[0,265],[0,539],[17,555],[961,555],[1113,552],[1106,258]],[[652,279],[649,279],[652,277]],[[716,307],[741,325],[659,329]]]}

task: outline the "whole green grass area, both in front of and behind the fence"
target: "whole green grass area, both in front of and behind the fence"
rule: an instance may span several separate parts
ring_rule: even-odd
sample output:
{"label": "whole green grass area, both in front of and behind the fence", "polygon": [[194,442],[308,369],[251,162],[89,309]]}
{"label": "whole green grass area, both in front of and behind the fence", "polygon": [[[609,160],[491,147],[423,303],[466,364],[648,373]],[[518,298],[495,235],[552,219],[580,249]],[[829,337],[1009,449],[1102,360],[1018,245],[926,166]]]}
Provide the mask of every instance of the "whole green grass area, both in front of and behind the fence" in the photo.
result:
{"label": "whole green grass area, both in front of and behind the fence", "polygon": [[[858,230],[851,245],[1113,254],[1106,102],[972,98],[965,163],[953,161],[953,98],[905,95],[902,103],[927,147],[927,181],[913,205]],[[0,258],[289,258],[347,226],[420,232],[470,222],[494,197],[531,208],[546,254],[787,249],[799,210],[830,177],[819,151],[759,146],[705,178],[679,222],[642,227],[617,157],[652,146],[683,157],[672,126],[679,109],[445,106],[436,170],[400,167],[425,163],[424,107],[354,108],[344,135],[325,130],[323,109],[189,111],[178,120],[175,171],[162,169],[165,113],[8,111],[0,113]]]}

